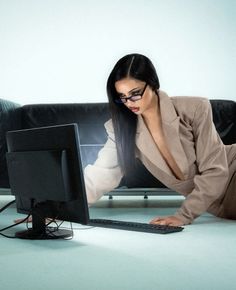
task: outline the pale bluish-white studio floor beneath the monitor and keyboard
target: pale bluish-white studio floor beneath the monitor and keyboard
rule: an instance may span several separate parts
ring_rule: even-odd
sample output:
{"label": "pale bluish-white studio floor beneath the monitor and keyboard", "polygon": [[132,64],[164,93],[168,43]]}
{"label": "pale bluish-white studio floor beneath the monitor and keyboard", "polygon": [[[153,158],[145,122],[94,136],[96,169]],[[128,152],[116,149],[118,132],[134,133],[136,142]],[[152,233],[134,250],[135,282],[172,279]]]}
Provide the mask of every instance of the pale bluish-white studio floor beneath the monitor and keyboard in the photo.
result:
{"label": "pale bluish-white studio floor beneath the monitor and keyboard", "polygon": [[[0,207],[12,199],[0,196]],[[90,209],[91,217],[148,222],[175,212],[182,198],[115,197]],[[11,207],[0,227],[21,215]],[[68,290],[234,290],[236,221],[204,214],[170,235],[89,228],[74,224],[73,240],[0,237],[0,288]],[[17,230],[24,229],[20,225]],[[13,233],[16,229],[9,231]]]}

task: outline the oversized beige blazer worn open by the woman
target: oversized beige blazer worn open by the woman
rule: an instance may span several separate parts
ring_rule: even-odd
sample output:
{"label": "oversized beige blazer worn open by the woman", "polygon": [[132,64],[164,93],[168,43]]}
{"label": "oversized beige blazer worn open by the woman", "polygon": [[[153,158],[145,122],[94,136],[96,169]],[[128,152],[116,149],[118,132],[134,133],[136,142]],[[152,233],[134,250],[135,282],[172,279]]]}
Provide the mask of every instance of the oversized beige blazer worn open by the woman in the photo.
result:
{"label": "oversized beige blazer worn open by the woman", "polygon": [[[168,97],[163,91],[159,96],[167,144],[185,180],[173,175],[140,115],[136,156],[163,184],[186,197],[175,214],[184,224],[205,211],[236,219],[236,144],[222,143],[206,98]],[[96,162],[84,170],[90,204],[117,187],[122,178],[111,120],[105,128],[108,140]]]}

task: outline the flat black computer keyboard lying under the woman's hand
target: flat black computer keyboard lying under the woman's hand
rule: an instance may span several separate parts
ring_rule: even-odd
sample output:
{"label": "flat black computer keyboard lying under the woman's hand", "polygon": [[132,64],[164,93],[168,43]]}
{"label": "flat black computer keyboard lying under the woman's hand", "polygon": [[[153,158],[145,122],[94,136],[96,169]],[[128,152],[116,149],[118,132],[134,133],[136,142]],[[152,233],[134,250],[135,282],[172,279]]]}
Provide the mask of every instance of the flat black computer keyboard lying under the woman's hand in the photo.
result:
{"label": "flat black computer keyboard lying under the woman's hand", "polygon": [[112,228],[127,231],[147,232],[154,234],[170,234],[180,232],[183,227],[164,226],[164,225],[153,225],[147,223],[137,223],[128,221],[117,221],[107,219],[90,219],[89,225],[96,227]]}

